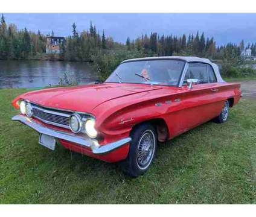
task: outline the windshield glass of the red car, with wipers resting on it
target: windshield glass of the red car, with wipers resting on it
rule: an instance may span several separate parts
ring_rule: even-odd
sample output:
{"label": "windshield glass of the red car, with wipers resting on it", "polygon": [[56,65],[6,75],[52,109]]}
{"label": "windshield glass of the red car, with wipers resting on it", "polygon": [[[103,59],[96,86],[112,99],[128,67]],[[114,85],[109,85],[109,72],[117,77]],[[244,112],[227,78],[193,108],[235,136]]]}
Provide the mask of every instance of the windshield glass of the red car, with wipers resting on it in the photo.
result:
{"label": "windshield glass of the red car, with wipers resting on it", "polygon": [[184,64],[182,60],[130,61],[120,64],[105,82],[178,86]]}

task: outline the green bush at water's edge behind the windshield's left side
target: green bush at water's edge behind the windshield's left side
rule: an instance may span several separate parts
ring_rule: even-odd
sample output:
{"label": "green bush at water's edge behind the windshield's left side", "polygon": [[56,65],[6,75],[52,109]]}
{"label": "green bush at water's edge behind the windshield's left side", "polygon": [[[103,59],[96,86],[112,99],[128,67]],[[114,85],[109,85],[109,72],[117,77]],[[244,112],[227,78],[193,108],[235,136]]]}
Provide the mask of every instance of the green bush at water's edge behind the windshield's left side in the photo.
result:
{"label": "green bush at water's edge behind the windshield's left side", "polygon": [[98,79],[104,81],[117,68],[121,61],[144,56],[145,54],[141,51],[119,50],[106,52],[99,50],[92,55],[92,68],[97,72]]}

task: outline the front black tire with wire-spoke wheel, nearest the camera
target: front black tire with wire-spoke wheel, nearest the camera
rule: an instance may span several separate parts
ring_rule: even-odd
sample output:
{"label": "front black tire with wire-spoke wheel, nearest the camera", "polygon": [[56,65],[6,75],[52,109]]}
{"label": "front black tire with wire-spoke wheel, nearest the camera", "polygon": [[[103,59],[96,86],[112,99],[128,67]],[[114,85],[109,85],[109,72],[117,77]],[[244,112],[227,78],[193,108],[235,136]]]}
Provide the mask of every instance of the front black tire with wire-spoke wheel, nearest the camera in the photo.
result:
{"label": "front black tire with wire-spoke wheel, nearest the camera", "polygon": [[[129,154],[123,162],[121,169],[132,177],[144,174],[152,164],[156,156],[157,134],[156,129],[151,124],[141,124],[135,127],[130,134]],[[149,142],[152,141],[152,142]],[[147,156],[148,154],[148,156]],[[145,157],[142,157],[144,156]],[[145,160],[145,164],[143,164]]]}

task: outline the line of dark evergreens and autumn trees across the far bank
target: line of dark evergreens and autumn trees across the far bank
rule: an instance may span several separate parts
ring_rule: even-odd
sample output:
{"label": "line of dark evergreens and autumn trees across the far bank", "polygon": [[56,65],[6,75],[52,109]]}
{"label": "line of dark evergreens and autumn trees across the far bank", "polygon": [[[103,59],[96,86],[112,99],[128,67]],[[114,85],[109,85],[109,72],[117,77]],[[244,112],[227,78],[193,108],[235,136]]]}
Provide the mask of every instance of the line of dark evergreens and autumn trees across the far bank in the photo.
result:
{"label": "line of dark evergreens and autumn trees across the far bank", "polygon": [[[46,36],[50,36],[47,34]],[[40,33],[18,30],[16,25],[7,25],[2,14],[0,22],[0,59],[19,60],[45,53],[46,36]],[[51,36],[54,36],[52,31]],[[239,45],[228,43],[217,46],[213,37],[205,37],[205,34],[183,34],[181,37],[174,35],[160,35],[158,33],[142,34],[142,36],[131,40],[129,37],[126,43],[118,43],[112,37],[106,37],[104,30],[97,31],[92,22],[89,30],[78,33],[77,26],[72,25],[71,36],[66,37],[63,45],[63,60],[67,61],[89,61],[94,60],[95,55],[102,53],[113,55],[124,52],[132,57],[166,56],[166,55],[196,55],[199,57],[213,59],[234,59],[239,58],[245,48],[252,49],[252,55],[256,55],[256,43],[248,44],[242,42]]]}

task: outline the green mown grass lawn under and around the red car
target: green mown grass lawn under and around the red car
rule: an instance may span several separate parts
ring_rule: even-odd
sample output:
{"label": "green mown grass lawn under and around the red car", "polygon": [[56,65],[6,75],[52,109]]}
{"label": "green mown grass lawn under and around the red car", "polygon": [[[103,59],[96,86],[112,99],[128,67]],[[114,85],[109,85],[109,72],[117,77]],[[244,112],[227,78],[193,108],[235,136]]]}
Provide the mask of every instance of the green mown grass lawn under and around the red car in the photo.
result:
{"label": "green mown grass lawn under and around the red car", "polygon": [[0,90],[0,203],[256,203],[256,101],[242,99],[225,124],[208,122],[168,143],[141,177],[62,146],[50,151],[11,117],[14,96]]}

